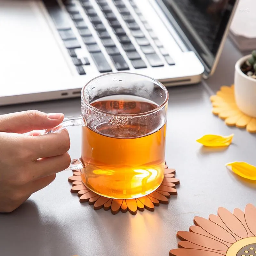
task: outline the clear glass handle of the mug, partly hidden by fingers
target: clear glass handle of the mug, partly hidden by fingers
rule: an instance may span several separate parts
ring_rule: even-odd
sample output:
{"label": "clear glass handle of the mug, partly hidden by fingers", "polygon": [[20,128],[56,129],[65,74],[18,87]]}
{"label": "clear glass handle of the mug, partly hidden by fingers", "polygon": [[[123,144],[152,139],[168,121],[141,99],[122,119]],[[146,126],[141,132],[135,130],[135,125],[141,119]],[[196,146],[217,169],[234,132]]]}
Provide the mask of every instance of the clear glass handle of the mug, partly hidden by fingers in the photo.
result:
{"label": "clear glass handle of the mug, partly hidden by fingers", "polygon": [[[65,117],[61,124],[45,130],[44,134],[59,132],[60,130],[70,126],[86,126],[83,116]],[[81,169],[82,167],[83,164],[81,163],[80,159],[76,158],[71,160],[71,163],[66,170]]]}

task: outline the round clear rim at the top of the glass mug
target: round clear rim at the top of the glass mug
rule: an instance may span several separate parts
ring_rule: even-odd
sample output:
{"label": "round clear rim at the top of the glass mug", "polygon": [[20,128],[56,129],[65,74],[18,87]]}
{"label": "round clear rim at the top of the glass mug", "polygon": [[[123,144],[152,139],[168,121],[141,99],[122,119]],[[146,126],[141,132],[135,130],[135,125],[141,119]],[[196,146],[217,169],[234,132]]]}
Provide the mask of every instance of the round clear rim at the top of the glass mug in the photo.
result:
{"label": "round clear rim at the top of the glass mug", "polygon": [[[152,80],[155,84],[159,85],[159,87],[162,88],[163,91],[165,92],[165,99],[164,99],[164,102],[163,102],[160,106],[158,106],[157,108],[154,108],[154,109],[152,109],[152,110],[149,110],[149,111],[143,112],[143,113],[139,113],[139,114],[117,114],[117,113],[109,113],[109,112],[104,111],[104,110],[101,110],[101,109],[99,109],[99,108],[95,108],[94,106],[92,106],[92,105],[84,98],[84,89],[86,88],[86,86],[88,86],[88,85],[89,85],[92,81],[94,81],[95,79],[98,79],[98,78],[100,78],[100,77],[102,77],[102,76],[111,76],[111,75],[115,75],[115,74],[127,74],[127,75],[144,76],[145,78]],[[96,77],[94,77],[93,79],[91,79],[89,82],[87,82],[87,83],[83,86],[83,88],[82,88],[82,90],[81,90],[81,99],[85,102],[85,104],[86,104],[87,106],[89,106],[89,108],[92,108],[92,109],[96,110],[97,112],[100,112],[100,113],[102,113],[102,114],[104,114],[104,115],[108,115],[108,116],[125,116],[125,117],[131,116],[131,117],[133,117],[133,116],[146,116],[146,115],[150,115],[150,114],[152,114],[152,113],[155,113],[155,112],[161,110],[161,109],[167,104],[167,102],[168,102],[168,100],[169,100],[169,93],[168,93],[167,88],[166,88],[161,82],[157,81],[156,79],[154,79],[154,78],[152,78],[152,77],[150,77],[150,76],[145,76],[145,75],[141,75],[141,74],[138,74],[138,73],[132,73],[132,72],[131,72],[131,73],[130,73],[130,72],[111,72],[111,73],[103,74],[103,75],[100,75],[100,76],[96,76]]]}

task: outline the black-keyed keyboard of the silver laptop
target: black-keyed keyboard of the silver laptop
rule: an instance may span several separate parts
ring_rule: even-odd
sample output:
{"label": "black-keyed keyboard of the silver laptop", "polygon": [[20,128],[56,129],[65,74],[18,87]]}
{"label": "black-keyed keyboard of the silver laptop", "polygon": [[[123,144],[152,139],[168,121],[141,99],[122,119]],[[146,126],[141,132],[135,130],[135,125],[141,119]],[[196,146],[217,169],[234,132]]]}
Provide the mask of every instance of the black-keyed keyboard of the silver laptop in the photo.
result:
{"label": "black-keyed keyboard of the silver laptop", "polygon": [[[143,60],[140,53],[136,50],[136,47],[132,43],[129,36],[126,34],[123,26],[118,21],[115,13],[112,8],[109,6],[107,0],[95,0],[100,10],[104,14],[104,17],[108,21],[109,26],[114,32],[114,36],[121,44],[126,56],[131,62],[133,68],[147,68],[145,61]],[[150,43],[147,36],[145,36],[140,25],[136,22],[132,16],[129,9],[126,7],[122,0],[112,0],[115,7],[119,11],[122,19],[125,21],[127,27],[130,29],[131,35],[134,37],[137,46],[140,47],[141,52],[146,57],[149,65],[151,67],[162,67],[164,65],[174,65],[169,53],[164,49],[163,44],[155,35],[152,28],[149,26],[148,22],[145,20],[144,16],[138,9],[134,0],[129,0],[134,11],[138,15],[140,21],[143,23],[144,27],[148,31],[148,35],[154,42],[154,46]],[[90,22],[92,23],[93,28],[97,32],[97,36],[100,38],[102,45],[105,47],[106,52],[108,53],[112,63],[114,64],[116,70],[123,71],[129,70],[129,65],[125,61],[124,56],[120,53],[118,46],[115,44],[115,40],[109,35],[106,27],[104,26],[101,18],[99,17],[97,11],[94,9],[90,0],[78,0],[82,5],[84,12],[88,16]],[[77,72],[79,75],[85,75],[86,65],[90,65],[88,58],[79,59],[76,55],[76,49],[81,48],[79,41],[76,38],[69,22],[70,20],[66,17],[65,13],[62,12],[59,4],[56,0],[44,0],[47,10],[49,11],[56,28],[60,34],[61,39],[65,47],[67,48],[68,54],[70,55],[74,65],[76,66]],[[96,67],[100,73],[111,72],[112,69],[108,63],[108,60],[105,58],[103,52],[101,51],[100,45],[97,43],[97,40],[90,29],[88,28],[86,22],[81,15],[76,2],[73,0],[65,0],[63,4],[66,7],[67,12],[70,15],[71,20],[74,22],[75,27],[78,30],[79,35],[81,36],[83,43],[85,44],[88,52],[91,54],[92,60],[94,61]],[[154,47],[157,47],[164,58],[164,61],[156,53]],[[143,56],[143,57],[144,57]]]}

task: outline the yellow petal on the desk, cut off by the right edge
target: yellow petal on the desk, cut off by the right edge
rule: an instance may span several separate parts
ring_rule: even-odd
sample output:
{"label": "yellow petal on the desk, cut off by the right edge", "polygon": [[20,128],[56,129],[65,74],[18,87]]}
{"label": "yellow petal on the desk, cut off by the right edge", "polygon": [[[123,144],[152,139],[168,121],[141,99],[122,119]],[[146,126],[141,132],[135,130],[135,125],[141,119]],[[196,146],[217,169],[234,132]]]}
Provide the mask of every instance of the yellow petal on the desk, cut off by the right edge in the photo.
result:
{"label": "yellow petal on the desk, cut off by the right edge", "polygon": [[226,166],[230,171],[235,172],[245,179],[256,180],[256,167],[251,164],[245,162],[233,162],[226,164]]}

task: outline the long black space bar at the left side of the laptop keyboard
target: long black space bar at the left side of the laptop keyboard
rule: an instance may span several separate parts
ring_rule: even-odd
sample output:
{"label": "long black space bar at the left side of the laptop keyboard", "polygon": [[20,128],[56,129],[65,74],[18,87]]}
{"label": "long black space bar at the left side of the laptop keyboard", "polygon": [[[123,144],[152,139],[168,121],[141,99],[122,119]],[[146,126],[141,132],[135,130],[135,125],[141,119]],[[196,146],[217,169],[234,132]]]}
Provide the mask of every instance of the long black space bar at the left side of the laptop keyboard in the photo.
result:
{"label": "long black space bar at the left side of the laptop keyboard", "polygon": [[44,1],[44,4],[57,29],[70,28],[68,16],[61,10],[60,5],[56,0]]}

